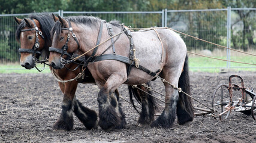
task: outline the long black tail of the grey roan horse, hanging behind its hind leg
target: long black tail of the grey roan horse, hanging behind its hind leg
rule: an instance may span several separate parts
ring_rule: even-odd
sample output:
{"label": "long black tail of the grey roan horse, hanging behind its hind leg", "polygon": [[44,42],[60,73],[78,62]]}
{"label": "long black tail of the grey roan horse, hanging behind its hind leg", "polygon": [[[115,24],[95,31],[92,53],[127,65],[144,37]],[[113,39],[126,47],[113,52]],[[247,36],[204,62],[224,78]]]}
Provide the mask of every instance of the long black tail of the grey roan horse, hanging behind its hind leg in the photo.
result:
{"label": "long black tail of the grey roan horse, hanging behind its hind leg", "polygon": [[[188,71],[188,55],[186,55],[182,74],[179,77],[179,88],[186,94],[190,93],[189,71]],[[192,122],[194,119],[194,110],[191,98],[188,95],[179,92],[179,101],[177,102],[177,119],[180,125],[186,122]]]}

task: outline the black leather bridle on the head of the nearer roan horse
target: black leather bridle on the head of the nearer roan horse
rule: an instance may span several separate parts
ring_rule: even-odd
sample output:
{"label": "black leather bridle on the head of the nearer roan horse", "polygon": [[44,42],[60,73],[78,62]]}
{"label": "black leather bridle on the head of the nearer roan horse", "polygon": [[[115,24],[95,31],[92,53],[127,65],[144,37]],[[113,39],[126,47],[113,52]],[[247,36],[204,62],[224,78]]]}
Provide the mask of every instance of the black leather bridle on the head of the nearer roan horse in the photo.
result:
{"label": "black leather bridle on the head of the nearer roan horse", "polygon": [[[73,32],[73,28],[71,27],[70,21],[68,21],[68,25],[70,26],[69,28],[61,28],[61,30],[69,30],[69,31],[72,33],[72,37],[74,38],[74,40],[75,40],[76,43],[77,43],[77,49],[79,49],[79,42],[77,41],[76,34]],[[67,51],[68,51],[68,41],[70,41],[70,38],[71,38],[71,36],[70,36],[70,34],[68,33],[68,35],[67,35],[67,41],[66,41],[65,45],[62,46],[61,49],[59,49],[59,48],[54,48],[54,47],[50,47],[50,48],[49,48],[49,51],[50,51],[50,52],[58,52],[59,54],[61,54],[61,64],[62,64],[62,65],[65,65],[65,64],[66,64],[66,60],[65,60],[65,58],[63,58],[63,55],[67,55],[67,56],[68,56],[68,59],[70,59],[70,58],[73,56],[73,54],[74,54],[74,52],[73,52],[72,54],[70,54],[70,53],[67,52]],[[67,60],[68,60],[68,59],[67,59]]]}

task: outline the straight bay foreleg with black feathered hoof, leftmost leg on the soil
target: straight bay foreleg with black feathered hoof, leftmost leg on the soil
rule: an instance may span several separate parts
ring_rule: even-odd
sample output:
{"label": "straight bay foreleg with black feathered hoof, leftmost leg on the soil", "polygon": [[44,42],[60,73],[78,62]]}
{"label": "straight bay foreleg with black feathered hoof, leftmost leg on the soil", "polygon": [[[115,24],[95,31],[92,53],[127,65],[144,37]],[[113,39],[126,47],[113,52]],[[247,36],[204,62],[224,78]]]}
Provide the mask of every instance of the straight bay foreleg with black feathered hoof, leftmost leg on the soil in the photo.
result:
{"label": "straight bay foreleg with black feathered hoof, leftmost leg on the soil", "polygon": [[[59,83],[61,89],[61,83]],[[74,120],[73,120],[73,99],[77,88],[77,82],[66,82],[64,85],[64,97],[62,100],[62,111],[61,115],[57,122],[53,125],[53,129],[56,130],[71,130],[73,129]]]}

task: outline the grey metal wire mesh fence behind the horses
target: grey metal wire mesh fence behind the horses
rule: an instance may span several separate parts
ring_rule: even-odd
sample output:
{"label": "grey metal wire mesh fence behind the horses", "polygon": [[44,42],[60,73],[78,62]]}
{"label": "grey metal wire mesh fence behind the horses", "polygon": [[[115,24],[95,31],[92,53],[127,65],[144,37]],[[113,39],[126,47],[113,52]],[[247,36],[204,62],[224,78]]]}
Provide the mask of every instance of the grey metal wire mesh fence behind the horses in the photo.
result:
{"label": "grey metal wire mesh fence behind the horses", "polygon": [[[256,51],[256,8],[226,8],[216,10],[162,10],[162,11],[101,11],[77,12],[59,10],[55,14],[62,17],[92,15],[106,21],[118,20],[133,28],[171,27],[188,35],[243,51]],[[19,43],[15,40],[17,24],[14,17],[25,18],[29,14],[0,15],[0,63],[17,62],[20,54]],[[188,51],[215,51],[215,45],[180,35]],[[222,49],[226,50],[226,49]],[[208,53],[209,54],[209,53]],[[239,60],[239,55],[228,51],[227,60]],[[238,57],[238,58],[237,58]],[[249,58],[254,63],[255,58]],[[227,67],[243,67],[227,63]],[[215,67],[214,65],[212,67]],[[248,67],[246,65],[246,67]],[[250,67],[250,66],[249,66]],[[254,67],[254,66],[252,66]]]}

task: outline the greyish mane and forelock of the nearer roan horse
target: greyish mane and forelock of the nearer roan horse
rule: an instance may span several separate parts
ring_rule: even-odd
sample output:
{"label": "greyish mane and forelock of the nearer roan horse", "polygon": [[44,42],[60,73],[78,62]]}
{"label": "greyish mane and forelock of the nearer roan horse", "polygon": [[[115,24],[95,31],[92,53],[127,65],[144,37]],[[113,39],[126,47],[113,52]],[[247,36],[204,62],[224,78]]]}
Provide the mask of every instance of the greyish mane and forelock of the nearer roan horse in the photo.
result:
{"label": "greyish mane and forelock of the nearer roan horse", "polygon": [[[77,24],[79,23],[86,24],[90,27],[98,27],[100,21],[104,21],[104,23],[106,23],[105,20],[101,20],[98,17],[84,16],[84,15],[64,17],[64,19],[68,21],[72,21]],[[113,20],[113,21],[110,21],[109,23],[113,24],[114,26],[121,27],[121,24],[119,23],[119,21]],[[55,25],[53,26],[51,31],[51,36],[53,36],[55,32],[56,32],[56,35],[59,35],[61,33],[61,23],[59,21],[56,21]]]}

